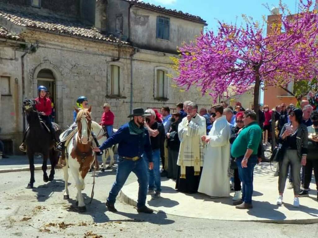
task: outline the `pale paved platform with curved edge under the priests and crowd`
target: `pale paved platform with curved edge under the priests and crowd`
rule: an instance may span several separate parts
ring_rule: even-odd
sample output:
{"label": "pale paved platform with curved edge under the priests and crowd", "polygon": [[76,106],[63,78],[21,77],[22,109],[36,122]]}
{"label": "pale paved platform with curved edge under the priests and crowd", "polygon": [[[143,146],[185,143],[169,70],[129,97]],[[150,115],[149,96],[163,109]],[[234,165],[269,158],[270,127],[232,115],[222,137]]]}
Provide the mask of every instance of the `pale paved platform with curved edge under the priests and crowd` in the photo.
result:
{"label": "pale paved platform with curved edge under the priests and crowd", "polygon": [[[276,205],[278,197],[278,177],[274,177],[276,165],[261,163],[254,170],[253,208],[250,210],[236,209],[232,205],[232,196],[227,198],[212,199],[204,194],[184,194],[175,190],[175,181],[162,180],[161,198],[151,200],[147,195],[147,206],[170,215],[178,215],[192,218],[205,218],[213,220],[229,221],[261,221],[276,223],[315,223],[318,222],[317,191],[313,183],[313,189],[309,197],[301,197],[299,208],[293,207],[293,189],[285,188],[282,206]],[[126,185],[121,190],[121,198],[136,206],[138,196],[138,183]]]}

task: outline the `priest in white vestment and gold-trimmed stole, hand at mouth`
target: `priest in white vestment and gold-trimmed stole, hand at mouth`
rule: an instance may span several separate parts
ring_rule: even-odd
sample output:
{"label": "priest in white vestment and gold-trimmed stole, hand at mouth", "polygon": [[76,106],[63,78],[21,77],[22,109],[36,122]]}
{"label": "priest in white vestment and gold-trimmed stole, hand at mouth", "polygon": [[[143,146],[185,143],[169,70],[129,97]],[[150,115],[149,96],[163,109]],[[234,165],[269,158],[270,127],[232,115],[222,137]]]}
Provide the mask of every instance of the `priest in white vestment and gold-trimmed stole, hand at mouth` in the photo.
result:
{"label": "priest in white vestment and gold-trimmed stole, hand at mouth", "polygon": [[201,137],[206,135],[205,118],[197,113],[197,104],[188,105],[188,116],[178,126],[180,150],[177,160],[179,165],[176,189],[186,193],[196,193],[203,166],[203,150],[200,148]]}

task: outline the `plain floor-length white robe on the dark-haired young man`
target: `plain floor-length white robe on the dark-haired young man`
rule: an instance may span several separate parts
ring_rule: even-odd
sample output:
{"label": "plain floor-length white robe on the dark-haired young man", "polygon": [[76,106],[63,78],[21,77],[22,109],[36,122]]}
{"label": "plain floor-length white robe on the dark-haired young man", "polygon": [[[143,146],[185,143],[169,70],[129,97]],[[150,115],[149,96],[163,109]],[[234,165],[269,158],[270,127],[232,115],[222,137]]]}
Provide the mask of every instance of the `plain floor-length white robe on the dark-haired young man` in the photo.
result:
{"label": "plain floor-length white robe on the dark-haired young man", "polygon": [[208,137],[210,142],[204,151],[204,165],[198,192],[212,197],[230,195],[230,179],[227,169],[230,160],[230,124],[225,116],[215,120]]}

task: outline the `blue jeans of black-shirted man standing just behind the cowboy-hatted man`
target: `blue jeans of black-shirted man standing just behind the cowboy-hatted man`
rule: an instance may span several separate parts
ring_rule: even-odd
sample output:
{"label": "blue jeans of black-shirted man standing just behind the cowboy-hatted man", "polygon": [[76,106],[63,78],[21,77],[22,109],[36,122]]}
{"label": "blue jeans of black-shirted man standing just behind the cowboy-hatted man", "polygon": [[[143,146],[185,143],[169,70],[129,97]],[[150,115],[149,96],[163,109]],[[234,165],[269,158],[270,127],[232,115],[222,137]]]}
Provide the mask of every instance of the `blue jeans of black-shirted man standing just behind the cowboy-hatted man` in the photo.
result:
{"label": "blue jeans of black-shirted man standing just behind the cowboy-hatted man", "polygon": [[[145,161],[148,163],[148,158],[146,153],[143,154]],[[155,149],[152,151],[152,162],[154,162],[154,168],[152,170],[148,169],[148,180],[149,180],[149,190],[161,191],[161,176],[160,176],[160,149]]]}

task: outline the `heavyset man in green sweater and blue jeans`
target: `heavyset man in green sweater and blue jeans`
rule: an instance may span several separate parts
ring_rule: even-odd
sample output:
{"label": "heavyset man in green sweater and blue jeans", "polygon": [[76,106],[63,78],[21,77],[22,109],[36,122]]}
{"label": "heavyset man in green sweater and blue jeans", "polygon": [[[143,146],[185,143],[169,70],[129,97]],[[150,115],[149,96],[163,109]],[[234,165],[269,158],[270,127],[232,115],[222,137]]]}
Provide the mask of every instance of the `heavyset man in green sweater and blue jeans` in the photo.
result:
{"label": "heavyset man in green sweater and blue jeans", "polygon": [[242,199],[233,202],[238,209],[250,209],[252,206],[253,172],[257,163],[257,151],[262,130],[256,121],[256,113],[247,109],[243,116],[244,128],[232,144],[231,155],[236,158],[239,178],[242,181]]}

